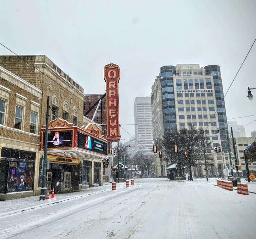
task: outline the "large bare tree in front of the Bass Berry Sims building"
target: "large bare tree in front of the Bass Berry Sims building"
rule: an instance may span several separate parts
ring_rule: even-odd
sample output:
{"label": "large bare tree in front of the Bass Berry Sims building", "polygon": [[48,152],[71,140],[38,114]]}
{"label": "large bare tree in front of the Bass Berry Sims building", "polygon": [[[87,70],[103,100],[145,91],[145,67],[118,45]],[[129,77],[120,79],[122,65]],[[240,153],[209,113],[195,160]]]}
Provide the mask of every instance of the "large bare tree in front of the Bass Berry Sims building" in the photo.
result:
{"label": "large bare tree in front of the Bass Berry Sims building", "polygon": [[157,142],[157,146],[163,151],[163,158],[168,164],[187,166],[190,180],[193,180],[192,167],[204,163],[204,152],[211,148],[211,143],[207,140],[203,128],[196,129],[190,125],[190,128],[179,128],[177,132],[165,136]]}

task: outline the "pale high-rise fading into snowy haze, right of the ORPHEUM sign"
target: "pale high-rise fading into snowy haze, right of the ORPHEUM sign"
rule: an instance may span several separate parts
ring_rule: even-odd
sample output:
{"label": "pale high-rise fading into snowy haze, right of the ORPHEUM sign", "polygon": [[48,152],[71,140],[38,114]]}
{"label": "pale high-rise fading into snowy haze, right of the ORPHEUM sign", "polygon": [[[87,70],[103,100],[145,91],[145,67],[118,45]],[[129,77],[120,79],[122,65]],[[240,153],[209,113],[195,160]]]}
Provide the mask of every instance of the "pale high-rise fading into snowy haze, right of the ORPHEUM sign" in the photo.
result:
{"label": "pale high-rise fading into snowy haze, right of the ORPHEUM sign", "polygon": [[150,97],[136,97],[134,101],[136,147],[143,153],[152,153],[153,129]]}

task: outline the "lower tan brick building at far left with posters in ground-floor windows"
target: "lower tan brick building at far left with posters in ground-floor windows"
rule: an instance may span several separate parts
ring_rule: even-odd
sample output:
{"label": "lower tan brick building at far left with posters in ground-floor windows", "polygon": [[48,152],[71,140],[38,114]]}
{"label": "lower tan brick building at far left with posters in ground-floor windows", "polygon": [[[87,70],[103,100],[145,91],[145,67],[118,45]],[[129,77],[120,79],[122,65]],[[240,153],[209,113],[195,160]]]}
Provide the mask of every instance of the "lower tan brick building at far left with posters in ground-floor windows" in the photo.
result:
{"label": "lower tan brick building at far left with posters in ground-floor windows", "polygon": [[40,89],[0,66],[0,200],[34,195],[41,101]]}

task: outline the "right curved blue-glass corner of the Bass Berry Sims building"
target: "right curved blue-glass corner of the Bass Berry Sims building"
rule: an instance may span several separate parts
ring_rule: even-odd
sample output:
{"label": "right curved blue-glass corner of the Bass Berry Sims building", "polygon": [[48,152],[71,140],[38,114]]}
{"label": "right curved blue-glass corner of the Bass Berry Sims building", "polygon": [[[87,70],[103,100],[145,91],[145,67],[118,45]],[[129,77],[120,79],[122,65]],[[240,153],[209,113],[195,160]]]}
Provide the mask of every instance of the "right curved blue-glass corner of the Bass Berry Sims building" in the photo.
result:
{"label": "right curved blue-glass corner of the Bass Berry Sims building", "polygon": [[218,65],[208,65],[208,66],[205,66],[204,69],[205,69],[206,75],[207,74],[213,75],[215,98],[216,98],[217,107],[219,107],[219,109],[217,110],[217,114],[218,114],[218,121],[219,121],[221,147],[222,147],[222,150],[225,153],[227,153],[228,146],[227,146],[226,130],[228,129],[228,127],[227,127],[227,116],[226,116],[226,109],[225,109],[226,107],[225,107],[225,101],[224,101],[220,67]]}

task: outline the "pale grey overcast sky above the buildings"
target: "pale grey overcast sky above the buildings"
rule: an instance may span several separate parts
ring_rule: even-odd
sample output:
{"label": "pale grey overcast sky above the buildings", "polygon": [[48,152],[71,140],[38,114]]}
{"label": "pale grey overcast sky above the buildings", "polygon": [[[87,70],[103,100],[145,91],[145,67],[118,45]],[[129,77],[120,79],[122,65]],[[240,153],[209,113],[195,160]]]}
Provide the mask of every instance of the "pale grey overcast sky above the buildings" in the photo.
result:
{"label": "pale grey overcast sky above the buildings", "polygon": [[[120,123],[134,124],[135,97],[150,96],[164,65],[218,64],[224,93],[256,38],[256,1],[2,1],[0,42],[47,55],[84,88],[104,94],[103,68],[120,66]],[[0,54],[8,54],[0,46]],[[256,115],[256,43],[226,98],[227,118]],[[245,125],[254,117],[237,119]],[[123,125],[134,135],[133,125]],[[247,136],[256,121],[245,127]],[[121,137],[129,135],[121,129]]]}

